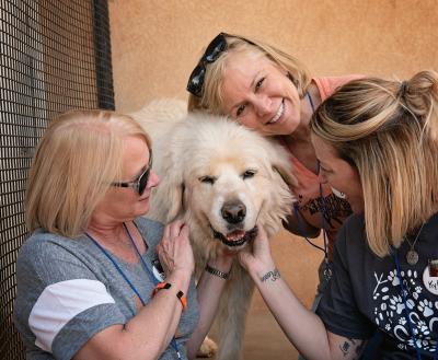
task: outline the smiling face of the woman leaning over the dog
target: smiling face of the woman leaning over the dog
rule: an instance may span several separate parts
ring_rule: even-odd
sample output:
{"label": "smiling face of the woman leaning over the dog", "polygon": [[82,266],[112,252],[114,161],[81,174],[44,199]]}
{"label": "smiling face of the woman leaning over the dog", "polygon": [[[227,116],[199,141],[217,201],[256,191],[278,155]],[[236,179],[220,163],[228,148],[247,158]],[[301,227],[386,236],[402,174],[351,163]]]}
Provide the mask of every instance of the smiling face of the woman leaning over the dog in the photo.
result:
{"label": "smiling face of the woman leaning over the dog", "polygon": [[233,53],[228,61],[221,85],[223,112],[265,136],[293,132],[300,124],[300,96],[286,69],[262,53]]}

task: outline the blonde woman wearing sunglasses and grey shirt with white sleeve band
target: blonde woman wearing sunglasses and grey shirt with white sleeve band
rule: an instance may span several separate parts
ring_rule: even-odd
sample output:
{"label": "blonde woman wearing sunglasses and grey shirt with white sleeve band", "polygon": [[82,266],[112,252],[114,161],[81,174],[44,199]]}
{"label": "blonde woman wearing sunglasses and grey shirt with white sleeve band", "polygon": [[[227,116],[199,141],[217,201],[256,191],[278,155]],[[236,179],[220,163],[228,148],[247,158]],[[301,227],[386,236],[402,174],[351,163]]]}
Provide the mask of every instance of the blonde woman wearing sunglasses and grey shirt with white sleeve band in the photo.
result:
{"label": "blonde woman wearing sunglasses and grey shirt with white sleeve band", "polygon": [[[150,149],[135,120],[112,112],[70,112],[44,133],[16,264],[26,359],[195,358],[224,280],[204,274],[198,304],[187,227],[141,217],[159,184]],[[231,262],[210,265],[228,272]]]}

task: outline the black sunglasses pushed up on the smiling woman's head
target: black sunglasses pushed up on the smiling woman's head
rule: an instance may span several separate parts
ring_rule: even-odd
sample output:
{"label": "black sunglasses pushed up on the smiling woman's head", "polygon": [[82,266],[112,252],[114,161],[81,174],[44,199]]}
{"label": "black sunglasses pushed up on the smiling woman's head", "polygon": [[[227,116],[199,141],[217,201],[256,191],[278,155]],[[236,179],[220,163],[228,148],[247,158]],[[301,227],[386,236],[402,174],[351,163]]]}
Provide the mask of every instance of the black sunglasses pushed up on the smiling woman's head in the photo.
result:
{"label": "black sunglasses pushed up on the smiling woman's head", "polygon": [[200,93],[203,91],[204,78],[206,72],[206,65],[215,62],[219,55],[223,53],[227,47],[227,36],[226,33],[220,33],[216,36],[210,44],[208,44],[203,57],[200,58],[196,68],[192,71],[191,77],[188,78],[187,91],[195,96],[200,97]]}

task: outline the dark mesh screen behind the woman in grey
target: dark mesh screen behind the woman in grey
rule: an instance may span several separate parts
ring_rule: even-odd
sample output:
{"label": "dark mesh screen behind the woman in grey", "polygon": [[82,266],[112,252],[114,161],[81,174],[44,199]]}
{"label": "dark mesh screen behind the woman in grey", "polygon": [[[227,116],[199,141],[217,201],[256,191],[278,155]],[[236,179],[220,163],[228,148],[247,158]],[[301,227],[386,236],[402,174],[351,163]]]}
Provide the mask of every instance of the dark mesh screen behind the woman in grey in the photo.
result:
{"label": "dark mesh screen behind the woman in grey", "polygon": [[114,108],[107,3],[0,0],[0,359],[24,359],[12,324],[23,197],[34,148],[57,114]]}

